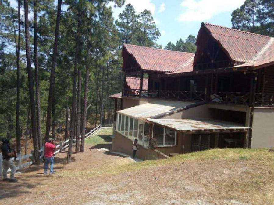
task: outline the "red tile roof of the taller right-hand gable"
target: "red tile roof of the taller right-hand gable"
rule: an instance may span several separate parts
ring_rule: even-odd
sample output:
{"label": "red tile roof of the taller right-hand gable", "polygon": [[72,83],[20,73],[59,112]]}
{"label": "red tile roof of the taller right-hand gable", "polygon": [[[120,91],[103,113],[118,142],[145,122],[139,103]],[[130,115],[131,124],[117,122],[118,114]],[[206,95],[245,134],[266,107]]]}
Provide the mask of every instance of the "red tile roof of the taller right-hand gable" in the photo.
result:
{"label": "red tile roof of the taller right-hand gable", "polygon": [[203,27],[208,29],[211,36],[220,43],[220,45],[227,51],[230,58],[236,62],[251,63],[258,60],[258,54],[262,53],[265,46],[272,41],[272,38],[268,36],[262,36],[210,23],[202,23],[197,36],[197,41]]}

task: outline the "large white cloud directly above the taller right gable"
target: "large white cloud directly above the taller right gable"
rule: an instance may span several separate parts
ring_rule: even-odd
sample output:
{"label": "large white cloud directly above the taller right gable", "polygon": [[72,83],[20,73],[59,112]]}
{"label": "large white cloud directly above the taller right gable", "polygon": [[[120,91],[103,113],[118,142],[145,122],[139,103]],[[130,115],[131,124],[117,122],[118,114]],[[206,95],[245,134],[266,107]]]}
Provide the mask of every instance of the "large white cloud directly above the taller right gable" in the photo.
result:
{"label": "large white cloud directly above the taller right gable", "polygon": [[204,21],[222,12],[239,8],[244,0],[183,0],[181,6],[185,11],[177,20],[185,22]]}

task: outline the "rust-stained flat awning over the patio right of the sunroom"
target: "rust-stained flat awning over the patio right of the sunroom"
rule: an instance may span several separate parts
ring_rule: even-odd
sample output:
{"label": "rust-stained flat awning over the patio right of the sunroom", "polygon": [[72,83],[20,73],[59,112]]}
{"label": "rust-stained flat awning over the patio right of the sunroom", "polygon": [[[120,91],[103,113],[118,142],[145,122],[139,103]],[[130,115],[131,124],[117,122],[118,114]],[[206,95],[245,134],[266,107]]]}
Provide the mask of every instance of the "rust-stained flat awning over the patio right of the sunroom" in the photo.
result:
{"label": "rust-stained flat awning over the patio right of the sunroom", "polygon": [[205,131],[247,131],[249,127],[241,124],[215,119],[147,119],[160,126],[175,129],[181,132],[205,132]]}

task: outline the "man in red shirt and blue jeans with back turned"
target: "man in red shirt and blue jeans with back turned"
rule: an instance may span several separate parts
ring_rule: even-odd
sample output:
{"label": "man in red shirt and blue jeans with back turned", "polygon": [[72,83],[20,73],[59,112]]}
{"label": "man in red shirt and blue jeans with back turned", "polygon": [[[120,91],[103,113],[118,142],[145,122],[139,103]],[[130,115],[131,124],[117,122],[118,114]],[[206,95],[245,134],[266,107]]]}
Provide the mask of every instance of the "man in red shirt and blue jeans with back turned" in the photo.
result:
{"label": "man in red shirt and blue jeans with back turned", "polygon": [[54,150],[56,148],[55,141],[53,138],[49,138],[48,142],[45,143],[44,157],[45,157],[45,168],[44,174],[48,172],[48,164],[50,163],[50,174],[53,173],[53,162],[54,162]]}

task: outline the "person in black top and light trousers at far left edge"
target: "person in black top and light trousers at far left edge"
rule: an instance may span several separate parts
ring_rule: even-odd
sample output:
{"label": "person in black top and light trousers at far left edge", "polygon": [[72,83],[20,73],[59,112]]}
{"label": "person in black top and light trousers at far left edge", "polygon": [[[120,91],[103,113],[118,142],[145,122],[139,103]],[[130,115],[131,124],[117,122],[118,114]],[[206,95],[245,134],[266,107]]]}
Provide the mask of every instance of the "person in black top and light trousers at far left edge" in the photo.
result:
{"label": "person in black top and light trousers at far left edge", "polygon": [[[1,152],[3,156],[3,181],[17,182],[17,179],[14,178],[16,172],[16,166],[12,162],[12,157],[15,157],[15,152],[10,149],[9,139],[2,139]],[[10,179],[7,177],[8,169],[11,169]]]}

